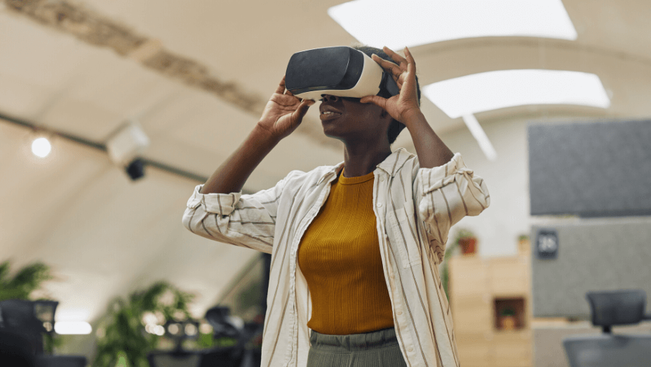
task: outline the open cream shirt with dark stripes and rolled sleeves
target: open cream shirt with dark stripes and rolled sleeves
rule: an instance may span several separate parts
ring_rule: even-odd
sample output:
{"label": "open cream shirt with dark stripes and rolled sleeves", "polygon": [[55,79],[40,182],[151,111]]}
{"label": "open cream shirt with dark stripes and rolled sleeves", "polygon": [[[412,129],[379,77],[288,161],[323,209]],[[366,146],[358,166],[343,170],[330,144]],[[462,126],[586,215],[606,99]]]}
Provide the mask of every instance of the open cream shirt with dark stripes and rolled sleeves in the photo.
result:
{"label": "open cream shirt with dark stripes and rolled sleeves", "polygon": [[[193,233],[271,253],[262,367],[307,364],[311,297],[297,266],[297,249],[342,168],[340,163],[292,171],[275,187],[255,194],[200,194],[199,185],[187,202],[183,223]],[[401,148],[373,173],[384,279],[405,361],[412,367],[458,367],[438,264],[450,227],[487,208],[488,189],[458,153],[443,166],[420,168],[417,157]]]}

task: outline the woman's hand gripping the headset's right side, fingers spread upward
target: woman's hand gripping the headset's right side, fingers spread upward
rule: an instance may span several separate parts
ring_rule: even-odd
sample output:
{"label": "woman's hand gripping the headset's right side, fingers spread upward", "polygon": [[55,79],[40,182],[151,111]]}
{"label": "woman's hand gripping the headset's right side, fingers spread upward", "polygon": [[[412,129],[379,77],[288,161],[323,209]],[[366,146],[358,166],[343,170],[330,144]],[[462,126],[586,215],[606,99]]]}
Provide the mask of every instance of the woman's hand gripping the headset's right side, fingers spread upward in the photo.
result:
{"label": "woman's hand gripping the headset's right side, fingers spread upward", "polygon": [[412,57],[409,49],[405,47],[405,56],[403,58],[390,48],[384,46],[384,52],[393,59],[396,64],[384,60],[377,55],[373,55],[373,60],[393,76],[394,81],[400,88],[400,94],[391,98],[382,98],[379,95],[367,95],[362,98],[362,103],[373,103],[382,107],[391,117],[408,125],[413,118],[421,114],[418,106],[418,94],[416,90],[416,62]]}

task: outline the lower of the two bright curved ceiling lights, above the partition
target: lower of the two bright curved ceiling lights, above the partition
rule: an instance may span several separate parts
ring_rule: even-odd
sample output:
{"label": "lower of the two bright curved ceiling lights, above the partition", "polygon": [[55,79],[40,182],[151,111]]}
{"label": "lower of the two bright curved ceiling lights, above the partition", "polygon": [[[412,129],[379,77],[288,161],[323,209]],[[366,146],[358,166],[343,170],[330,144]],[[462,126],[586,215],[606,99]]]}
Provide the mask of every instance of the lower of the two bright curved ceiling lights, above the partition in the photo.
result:
{"label": "lower of the two bright curved ceiling lights, above the partition", "polygon": [[562,70],[483,72],[429,84],[422,93],[452,119],[521,105],[610,107],[598,76]]}

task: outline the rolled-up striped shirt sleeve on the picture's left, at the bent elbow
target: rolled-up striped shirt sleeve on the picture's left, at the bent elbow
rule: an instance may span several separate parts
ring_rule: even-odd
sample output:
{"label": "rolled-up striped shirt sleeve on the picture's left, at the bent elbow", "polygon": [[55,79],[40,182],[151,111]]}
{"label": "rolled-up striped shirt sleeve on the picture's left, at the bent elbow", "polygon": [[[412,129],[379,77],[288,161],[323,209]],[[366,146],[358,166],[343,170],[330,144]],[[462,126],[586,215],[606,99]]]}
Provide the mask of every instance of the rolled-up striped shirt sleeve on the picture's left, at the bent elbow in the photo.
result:
{"label": "rolled-up striped shirt sleeve on the picture's left, at the bent elbow", "polygon": [[285,180],[255,194],[201,194],[194,188],[183,214],[183,225],[194,234],[271,253],[278,200]]}

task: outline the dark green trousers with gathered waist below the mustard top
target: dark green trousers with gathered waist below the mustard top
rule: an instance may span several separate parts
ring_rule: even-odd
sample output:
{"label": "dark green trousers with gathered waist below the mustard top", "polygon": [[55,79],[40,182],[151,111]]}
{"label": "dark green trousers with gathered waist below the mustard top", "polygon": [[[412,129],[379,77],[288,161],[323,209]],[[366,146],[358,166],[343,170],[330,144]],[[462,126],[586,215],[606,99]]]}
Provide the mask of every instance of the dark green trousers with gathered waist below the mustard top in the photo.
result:
{"label": "dark green trousers with gathered waist below the mustard top", "polygon": [[326,335],[311,331],[307,367],[401,367],[407,366],[396,330]]}

